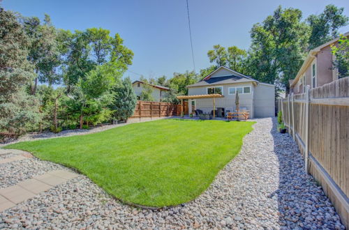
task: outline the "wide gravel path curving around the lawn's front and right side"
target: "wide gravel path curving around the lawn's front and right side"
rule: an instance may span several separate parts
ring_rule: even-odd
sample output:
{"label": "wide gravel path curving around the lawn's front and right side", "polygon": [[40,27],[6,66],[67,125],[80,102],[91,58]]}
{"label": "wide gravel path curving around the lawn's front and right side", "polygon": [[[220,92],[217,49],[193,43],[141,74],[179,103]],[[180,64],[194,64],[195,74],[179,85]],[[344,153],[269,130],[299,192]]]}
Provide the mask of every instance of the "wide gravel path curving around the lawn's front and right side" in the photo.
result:
{"label": "wide gravel path curving around the lawn's front and right side", "polygon": [[276,119],[256,121],[240,154],[188,204],[133,208],[81,175],[0,213],[0,229],[344,229]]}

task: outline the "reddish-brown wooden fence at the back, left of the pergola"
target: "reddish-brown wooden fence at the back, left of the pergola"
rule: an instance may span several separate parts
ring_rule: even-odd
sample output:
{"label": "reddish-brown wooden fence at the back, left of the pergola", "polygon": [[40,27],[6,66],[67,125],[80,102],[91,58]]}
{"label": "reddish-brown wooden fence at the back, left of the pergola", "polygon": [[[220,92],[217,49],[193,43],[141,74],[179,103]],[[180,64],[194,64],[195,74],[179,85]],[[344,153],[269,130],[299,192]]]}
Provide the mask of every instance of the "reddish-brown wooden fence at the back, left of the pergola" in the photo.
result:
{"label": "reddish-brown wooden fence at the back, left of the pergola", "polygon": [[[188,114],[188,103],[184,105],[184,111]],[[162,116],[179,116],[181,105],[168,102],[149,102],[138,100],[135,105],[135,112],[131,118],[155,118]]]}

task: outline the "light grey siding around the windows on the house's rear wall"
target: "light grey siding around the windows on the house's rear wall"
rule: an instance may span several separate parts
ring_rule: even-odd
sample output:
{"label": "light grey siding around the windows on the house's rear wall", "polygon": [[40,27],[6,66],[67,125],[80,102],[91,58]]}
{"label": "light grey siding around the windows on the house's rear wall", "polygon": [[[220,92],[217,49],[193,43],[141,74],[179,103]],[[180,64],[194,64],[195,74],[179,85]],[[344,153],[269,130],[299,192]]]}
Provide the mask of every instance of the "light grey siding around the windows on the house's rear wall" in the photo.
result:
{"label": "light grey siding around the windows on the house's rear wall", "polygon": [[[237,83],[237,84],[223,84],[223,85],[215,85],[215,86],[223,86],[223,95],[224,98],[215,98],[216,108],[223,107],[226,110],[233,111],[235,109],[235,94],[229,95],[228,88],[236,87],[236,86],[251,86],[251,93],[239,94],[239,107],[246,107],[250,111],[251,118],[253,118],[253,91],[254,86],[252,82],[245,83]],[[207,94],[207,87],[211,86],[198,86],[198,87],[190,87],[188,88],[188,95],[200,95]],[[195,100],[195,108],[202,110],[204,113],[210,113],[213,109],[212,98],[203,98]]]}

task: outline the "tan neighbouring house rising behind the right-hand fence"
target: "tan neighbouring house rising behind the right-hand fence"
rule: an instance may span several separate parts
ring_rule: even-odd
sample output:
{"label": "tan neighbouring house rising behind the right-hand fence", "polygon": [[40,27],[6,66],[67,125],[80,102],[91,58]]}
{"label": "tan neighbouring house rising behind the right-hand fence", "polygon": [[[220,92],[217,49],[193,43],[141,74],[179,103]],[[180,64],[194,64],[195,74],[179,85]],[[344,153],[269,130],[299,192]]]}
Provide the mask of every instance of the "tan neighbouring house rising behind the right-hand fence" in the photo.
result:
{"label": "tan neighbouring house rising behind the right-hand fence", "polygon": [[[349,36],[349,32],[344,36]],[[290,93],[304,93],[305,86],[311,88],[323,86],[338,79],[338,69],[333,67],[336,56],[332,54],[332,45],[338,45],[339,38],[311,49],[299,69],[295,79],[290,81]]]}

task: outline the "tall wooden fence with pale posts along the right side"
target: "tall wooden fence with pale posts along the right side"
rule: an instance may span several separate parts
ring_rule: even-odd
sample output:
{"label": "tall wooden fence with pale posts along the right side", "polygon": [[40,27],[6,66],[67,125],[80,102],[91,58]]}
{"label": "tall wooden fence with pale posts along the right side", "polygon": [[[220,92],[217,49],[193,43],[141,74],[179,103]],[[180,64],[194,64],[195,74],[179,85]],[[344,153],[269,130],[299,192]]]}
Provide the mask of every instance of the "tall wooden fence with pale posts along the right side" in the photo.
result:
{"label": "tall wooden fence with pale posts along the right side", "polygon": [[343,224],[349,222],[349,77],[279,100],[305,170],[318,181]]}

